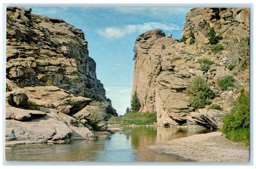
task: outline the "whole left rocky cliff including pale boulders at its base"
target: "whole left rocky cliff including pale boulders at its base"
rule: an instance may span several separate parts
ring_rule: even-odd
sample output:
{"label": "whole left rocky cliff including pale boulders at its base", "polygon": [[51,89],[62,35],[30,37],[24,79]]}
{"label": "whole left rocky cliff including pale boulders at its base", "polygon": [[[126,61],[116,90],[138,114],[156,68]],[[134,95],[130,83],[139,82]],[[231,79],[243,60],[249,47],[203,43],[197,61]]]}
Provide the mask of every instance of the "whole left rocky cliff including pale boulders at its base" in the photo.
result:
{"label": "whole left rocky cliff including pale boulders at its base", "polygon": [[31,10],[7,7],[6,85],[9,144],[93,138],[92,101],[110,102],[104,112],[117,116],[96,77],[84,33]]}

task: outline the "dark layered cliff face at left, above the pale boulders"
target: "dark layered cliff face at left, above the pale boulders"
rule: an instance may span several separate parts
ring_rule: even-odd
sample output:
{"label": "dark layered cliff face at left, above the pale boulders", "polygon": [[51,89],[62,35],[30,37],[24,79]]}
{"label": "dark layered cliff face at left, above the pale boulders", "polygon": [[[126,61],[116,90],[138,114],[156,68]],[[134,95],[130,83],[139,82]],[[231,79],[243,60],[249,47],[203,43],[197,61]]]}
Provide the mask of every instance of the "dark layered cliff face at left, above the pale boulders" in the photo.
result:
{"label": "dark layered cliff face at left, above the pale boulders", "polygon": [[7,7],[6,78],[20,88],[50,81],[75,96],[105,101],[84,33],[61,19],[30,12]]}

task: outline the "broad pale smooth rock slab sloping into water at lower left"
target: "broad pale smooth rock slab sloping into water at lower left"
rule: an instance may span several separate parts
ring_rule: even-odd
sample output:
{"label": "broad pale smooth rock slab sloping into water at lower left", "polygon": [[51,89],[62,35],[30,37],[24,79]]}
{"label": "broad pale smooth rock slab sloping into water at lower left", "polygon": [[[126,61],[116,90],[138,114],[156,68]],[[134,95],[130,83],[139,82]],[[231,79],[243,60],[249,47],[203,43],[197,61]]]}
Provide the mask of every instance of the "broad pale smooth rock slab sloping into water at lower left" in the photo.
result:
{"label": "broad pale smooth rock slab sloping into water at lower left", "polygon": [[[42,108],[41,110],[45,112],[42,112],[44,116],[34,120],[20,122],[7,118],[5,127],[6,144],[68,142],[70,140],[94,139],[92,131],[84,127],[75,118],[55,109]],[[34,113],[39,112],[36,110],[32,111]]]}

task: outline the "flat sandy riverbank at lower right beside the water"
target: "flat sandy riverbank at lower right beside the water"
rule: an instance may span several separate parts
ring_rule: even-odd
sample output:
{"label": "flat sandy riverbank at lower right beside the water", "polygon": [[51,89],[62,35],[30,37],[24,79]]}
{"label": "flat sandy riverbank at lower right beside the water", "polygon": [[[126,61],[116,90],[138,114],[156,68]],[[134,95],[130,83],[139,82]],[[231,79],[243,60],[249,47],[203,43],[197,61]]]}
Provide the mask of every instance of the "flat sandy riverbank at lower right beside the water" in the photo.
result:
{"label": "flat sandy riverbank at lower right beside the water", "polygon": [[182,137],[148,148],[196,162],[249,162],[249,147],[228,140],[220,132]]}

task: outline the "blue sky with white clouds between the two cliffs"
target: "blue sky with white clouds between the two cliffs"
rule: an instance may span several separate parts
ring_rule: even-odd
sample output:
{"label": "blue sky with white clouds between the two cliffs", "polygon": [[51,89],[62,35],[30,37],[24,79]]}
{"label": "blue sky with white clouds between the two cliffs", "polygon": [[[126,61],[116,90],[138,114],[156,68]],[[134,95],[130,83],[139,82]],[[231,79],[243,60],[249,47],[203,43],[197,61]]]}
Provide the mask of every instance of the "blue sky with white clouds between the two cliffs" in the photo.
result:
{"label": "blue sky with white clouds between the two cliffs", "polygon": [[[26,7],[30,8],[30,7]],[[97,79],[119,115],[130,107],[133,47],[140,33],[162,29],[181,38],[191,8],[31,7],[32,13],[61,18],[85,34],[89,56],[96,62]]]}

